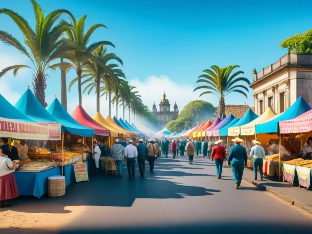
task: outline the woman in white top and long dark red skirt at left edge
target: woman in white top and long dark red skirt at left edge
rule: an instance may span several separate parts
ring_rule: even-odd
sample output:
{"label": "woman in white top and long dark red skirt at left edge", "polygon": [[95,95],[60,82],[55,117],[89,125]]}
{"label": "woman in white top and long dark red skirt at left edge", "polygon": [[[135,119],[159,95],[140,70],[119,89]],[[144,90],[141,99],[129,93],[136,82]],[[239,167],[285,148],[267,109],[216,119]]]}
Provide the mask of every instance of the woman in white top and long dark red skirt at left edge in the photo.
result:
{"label": "woman in white top and long dark red skirt at left edge", "polygon": [[0,149],[0,208],[11,207],[7,201],[18,197],[17,185],[13,174],[17,166]]}

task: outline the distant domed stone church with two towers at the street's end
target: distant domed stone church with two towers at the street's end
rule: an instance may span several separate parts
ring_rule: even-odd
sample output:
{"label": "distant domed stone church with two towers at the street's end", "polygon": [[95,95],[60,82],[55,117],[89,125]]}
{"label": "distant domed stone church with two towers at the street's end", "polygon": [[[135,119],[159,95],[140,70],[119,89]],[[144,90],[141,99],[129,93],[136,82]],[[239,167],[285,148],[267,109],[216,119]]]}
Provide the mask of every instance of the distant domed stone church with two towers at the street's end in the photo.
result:
{"label": "distant domed stone church with two towers at the street's end", "polygon": [[173,111],[170,110],[170,103],[166,99],[166,94],[163,92],[163,99],[159,102],[159,111],[157,111],[156,104],[154,102],[152,107],[152,115],[154,119],[158,121],[158,128],[162,130],[168,122],[178,118],[179,109],[176,102],[173,105]]}

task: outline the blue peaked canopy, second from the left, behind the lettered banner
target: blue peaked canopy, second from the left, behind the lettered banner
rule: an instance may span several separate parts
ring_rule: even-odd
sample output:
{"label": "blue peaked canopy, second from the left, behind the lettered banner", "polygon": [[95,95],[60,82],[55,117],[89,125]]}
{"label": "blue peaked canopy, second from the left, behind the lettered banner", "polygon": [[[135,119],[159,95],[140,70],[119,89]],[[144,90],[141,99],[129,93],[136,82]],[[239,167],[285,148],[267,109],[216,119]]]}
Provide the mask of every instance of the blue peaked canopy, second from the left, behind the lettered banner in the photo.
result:
{"label": "blue peaked canopy, second from the left, behind the lettered banner", "polygon": [[15,104],[15,108],[28,118],[41,123],[60,123],[38,101],[36,96],[28,88]]}

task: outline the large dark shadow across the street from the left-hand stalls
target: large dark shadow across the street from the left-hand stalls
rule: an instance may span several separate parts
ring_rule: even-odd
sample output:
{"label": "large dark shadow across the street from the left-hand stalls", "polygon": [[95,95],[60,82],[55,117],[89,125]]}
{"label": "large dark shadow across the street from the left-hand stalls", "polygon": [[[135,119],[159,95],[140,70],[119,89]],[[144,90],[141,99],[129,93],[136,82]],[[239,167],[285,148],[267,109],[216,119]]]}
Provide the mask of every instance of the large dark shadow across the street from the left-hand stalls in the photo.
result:
{"label": "large dark shadow across the street from the left-hand stalls", "polygon": [[[168,178],[158,176],[167,176]],[[13,207],[1,211],[68,213],[69,211],[64,209],[66,206],[131,207],[137,198],[182,199],[184,196],[179,194],[208,196],[213,195],[214,192],[221,192],[220,190],[203,187],[180,185],[169,180],[173,176],[210,175],[168,170],[155,170],[154,173],[151,173],[146,170],[145,178],[141,178],[137,170],[136,178],[129,179],[126,170],[124,170],[123,177],[95,174],[90,175],[89,181],[71,184],[62,197],[48,197],[45,195],[40,200],[35,197],[19,197],[12,200]],[[28,204],[28,206],[24,206],[24,204]],[[34,208],[30,209],[29,204]],[[57,209],[50,209],[51,206],[55,206]]]}

